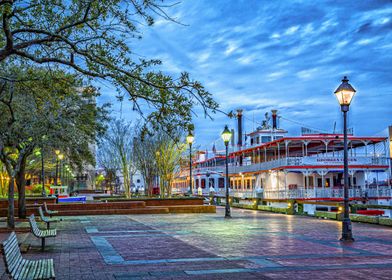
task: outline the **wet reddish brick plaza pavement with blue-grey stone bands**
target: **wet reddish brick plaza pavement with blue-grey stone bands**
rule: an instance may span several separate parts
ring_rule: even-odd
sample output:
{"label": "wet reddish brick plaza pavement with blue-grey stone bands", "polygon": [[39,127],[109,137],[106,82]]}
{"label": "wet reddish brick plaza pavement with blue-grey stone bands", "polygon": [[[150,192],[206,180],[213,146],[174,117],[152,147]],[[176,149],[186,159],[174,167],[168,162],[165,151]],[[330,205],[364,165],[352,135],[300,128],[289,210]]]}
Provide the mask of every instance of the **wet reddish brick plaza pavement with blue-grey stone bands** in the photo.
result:
{"label": "wet reddish brick plaza pavement with blue-grey stone bands", "polygon": [[73,280],[391,279],[392,228],[354,223],[342,244],[336,221],[223,214],[65,217],[44,253],[29,234],[24,257],[53,258],[57,279]]}

